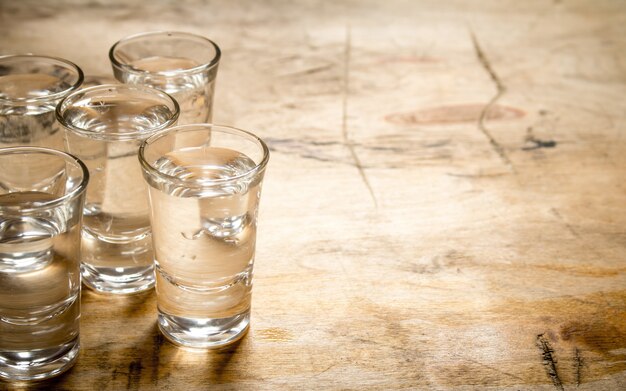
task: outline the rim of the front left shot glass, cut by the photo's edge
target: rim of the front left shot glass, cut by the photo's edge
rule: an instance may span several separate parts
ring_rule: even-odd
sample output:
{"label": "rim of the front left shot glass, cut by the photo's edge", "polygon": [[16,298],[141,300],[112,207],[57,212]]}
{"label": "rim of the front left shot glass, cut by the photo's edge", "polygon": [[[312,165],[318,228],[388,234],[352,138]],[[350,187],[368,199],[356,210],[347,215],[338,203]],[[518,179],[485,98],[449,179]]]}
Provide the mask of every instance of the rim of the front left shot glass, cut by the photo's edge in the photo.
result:
{"label": "rim of the front left shot glass, cut by the photo's edge", "polygon": [[[49,209],[51,207],[63,204],[67,202],[68,200],[76,198],[81,193],[85,192],[85,190],[87,190],[87,184],[89,183],[89,170],[87,169],[87,166],[85,165],[85,163],[83,163],[83,161],[77,158],[76,156],[69,154],[67,152],[59,151],[57,149],[44,148],[44,147],[19,146],[19,147],[0,148],[0,156],[19,154],[19,153],[22,153],[22,154],[23,153],[27,153],[27,154],[28,153],[43,153],[47,155],[58,156],[62,158],[63,160],[65,160],[66,162],[74,163],[78,165],[78,167],[82,171],[83,177],[75,189],[73,189],[69,193],[63,194],[62,196],[56,197],[52,200],[37,201],[37,202],[32,202],[32,201],[23,202],[23,203],[19,203],[16,205],[10,205],[10,206],[2,205],[0,203],[0,210],[4,211],[4,210],[18,209],[20,211],[31,211],[31,210]],[[10,194],[10,193],[7,193],[7,194]]]}

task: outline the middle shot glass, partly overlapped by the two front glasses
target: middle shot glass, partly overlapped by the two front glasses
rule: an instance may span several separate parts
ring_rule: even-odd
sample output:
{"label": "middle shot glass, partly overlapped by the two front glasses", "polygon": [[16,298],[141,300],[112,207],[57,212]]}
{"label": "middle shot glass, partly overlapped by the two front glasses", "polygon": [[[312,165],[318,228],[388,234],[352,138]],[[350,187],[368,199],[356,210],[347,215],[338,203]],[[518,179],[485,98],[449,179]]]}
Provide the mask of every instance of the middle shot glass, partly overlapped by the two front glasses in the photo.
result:
{"label": "middle shot glass, partly overlapped by the two front glasses", "polygon": [[152,134],[175,125],[176,101],[150,87],[100,85],[57,106],[66,149],[91,175],[82,229],[83,283],[103,293],[154,286],[149,206],[137,150]]}

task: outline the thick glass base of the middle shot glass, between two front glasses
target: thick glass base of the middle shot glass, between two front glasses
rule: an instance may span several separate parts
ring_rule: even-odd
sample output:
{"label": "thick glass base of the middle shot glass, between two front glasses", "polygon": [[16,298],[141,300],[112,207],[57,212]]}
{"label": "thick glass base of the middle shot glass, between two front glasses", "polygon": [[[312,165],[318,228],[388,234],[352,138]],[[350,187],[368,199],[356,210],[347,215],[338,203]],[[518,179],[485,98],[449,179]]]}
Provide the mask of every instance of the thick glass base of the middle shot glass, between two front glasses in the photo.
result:
{"label": "thick glass base of the middle shot glass, between two front glasses", "polygon": [[154,286],[154,266],[148,267],[94,267],[80,266],[83,284],[100,293],[127,295],[151,289]]}

